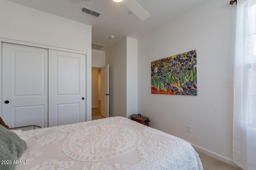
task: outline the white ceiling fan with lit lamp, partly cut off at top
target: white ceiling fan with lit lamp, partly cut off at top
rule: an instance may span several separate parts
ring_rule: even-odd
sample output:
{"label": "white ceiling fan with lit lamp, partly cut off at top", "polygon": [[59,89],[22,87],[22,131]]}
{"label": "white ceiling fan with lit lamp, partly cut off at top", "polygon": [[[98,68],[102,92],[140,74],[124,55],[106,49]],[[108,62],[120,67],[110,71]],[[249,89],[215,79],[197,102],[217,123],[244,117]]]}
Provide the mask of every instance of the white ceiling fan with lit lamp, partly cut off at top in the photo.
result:
{"label": "white ceiling fan with lit lamp, partly cut off at top", "polygon": [[[70,0],[73,4],[86,2],[90,0]],[[140,20],[146,20],[150,14],[138,4],[135,0],[113,0],[115,2],[123,2]]]}

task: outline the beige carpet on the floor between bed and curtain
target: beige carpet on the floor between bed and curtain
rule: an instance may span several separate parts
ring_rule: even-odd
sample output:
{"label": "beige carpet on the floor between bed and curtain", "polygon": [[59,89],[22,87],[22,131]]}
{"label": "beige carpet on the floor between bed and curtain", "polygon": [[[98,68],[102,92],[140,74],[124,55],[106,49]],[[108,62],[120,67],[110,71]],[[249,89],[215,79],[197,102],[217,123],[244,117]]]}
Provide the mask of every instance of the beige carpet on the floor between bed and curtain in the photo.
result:
{"label": "beige carpet on the floor between bed and curtain", "polygon": [[241,170],[203,152],[199,152],[198,150],[196,152],[199,154],[204,170]]}

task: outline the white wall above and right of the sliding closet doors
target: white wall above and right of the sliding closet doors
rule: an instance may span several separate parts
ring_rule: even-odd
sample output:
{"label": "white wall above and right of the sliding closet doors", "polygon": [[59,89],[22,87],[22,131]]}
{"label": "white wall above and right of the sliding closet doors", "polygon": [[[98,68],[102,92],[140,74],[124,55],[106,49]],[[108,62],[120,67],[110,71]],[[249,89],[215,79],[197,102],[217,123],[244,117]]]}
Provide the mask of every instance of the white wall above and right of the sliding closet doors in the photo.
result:
{"label": "white wall above and right of the sliding closet doors", "polygon": [[92,27],[6,0],[0,0],[0,21],[0,38],[2,39],[87,53],[86,110],[87,120],[91,120]]}

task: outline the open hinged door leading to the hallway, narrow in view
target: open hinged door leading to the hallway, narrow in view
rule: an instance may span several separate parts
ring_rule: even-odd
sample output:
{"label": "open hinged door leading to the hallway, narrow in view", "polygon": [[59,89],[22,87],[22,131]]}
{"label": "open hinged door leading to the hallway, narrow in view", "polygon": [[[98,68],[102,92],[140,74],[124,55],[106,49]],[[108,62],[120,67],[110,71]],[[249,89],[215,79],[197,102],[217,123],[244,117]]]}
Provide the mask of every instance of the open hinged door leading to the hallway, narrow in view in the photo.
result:
{"label": "open hinged door leading to the hallway, narrow in view", "polygon": [[108,117],[108,65],[101,68],[101,109],[100,114]]}

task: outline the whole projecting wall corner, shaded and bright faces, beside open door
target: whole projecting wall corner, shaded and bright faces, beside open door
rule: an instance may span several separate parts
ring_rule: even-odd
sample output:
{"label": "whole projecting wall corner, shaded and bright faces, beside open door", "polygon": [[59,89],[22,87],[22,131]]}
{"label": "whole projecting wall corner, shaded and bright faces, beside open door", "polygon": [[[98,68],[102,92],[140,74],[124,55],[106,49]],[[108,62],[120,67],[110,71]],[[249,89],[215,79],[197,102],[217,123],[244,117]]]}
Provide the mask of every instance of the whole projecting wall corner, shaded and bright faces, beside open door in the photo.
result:
{"label": "whole projecting wall corner, shaded and bright faces, beside open door", "polygon": [[130,37],[106,51],[109,64],[109,115],[138,113],[138,40]]}

